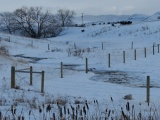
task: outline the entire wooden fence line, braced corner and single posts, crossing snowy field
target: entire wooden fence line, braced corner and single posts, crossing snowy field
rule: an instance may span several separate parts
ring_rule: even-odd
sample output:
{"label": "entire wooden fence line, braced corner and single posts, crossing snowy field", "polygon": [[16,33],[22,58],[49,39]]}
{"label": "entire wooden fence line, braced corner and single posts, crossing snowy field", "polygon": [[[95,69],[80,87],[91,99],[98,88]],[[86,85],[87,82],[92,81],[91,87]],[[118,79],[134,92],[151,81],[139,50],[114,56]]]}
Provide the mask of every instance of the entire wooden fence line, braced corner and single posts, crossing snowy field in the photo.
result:
{"label": "entire wooden fence line, braced corner and single posts, crossing snowy field", "polygon": [[[158,47],[158,53],[159,53],[159,44],[158,44],[157,47]],[[152,55],[155,55],[155,46],[153,45],[151,48],[152,48],[152,50],[149,49],[148,51],[150,53],[152,51]],[[102,43],[102,50],[104,50],[103,43]],[[137,54],[139,53],[140,50],[141,49],[135,49],[135,48],[133,50],[131,50],[131,51],[134,51],[133,53],[130,53],[131,54],[130,56],[133,55],[133,58],[134,58],[134,59],[132,58],[132,60],[137,60]],[[146,47],[143,48],[140,53],[143,53],[141,56],[143,56],[143,57],[146,58],[148,56],[147,55],[147,48]],[[126,63],[127,62],[126,51],[124,50],[121,54],[122,54],[121,59],[123,58],[122,63]],[[109,53],[108,54],[108,68],[111,67],[111,63],[115,64],[114,61],[112,61],[113,59],[114,58],[112,58],[111,54]],[[119,60],[119,61],[121,61],[121,60]],[[106,63],[107,63],[107,61],[106,61]],[[61,78],[64,77],[64,75],[63,75],[63,69],[64,69],[63,68],[63,62],[61,62],[61,65],[60,65]],[[88,73],[89,70],[90,70],[90,68],[89,68],[88,58],[86,58],[85,59],[85,72]],[[41,92],[44,93],[44,71],[42,71],[42,72],[33,71],[32,66],[30,68],[24,68],[24,69],[20,69],[20,70],[15,70],[15,67],[12,66],[11,67],[11,88],[15,88],[16,87],[16,85],[15,85],[15,73],[29,73],[30,74],[30,85],[32,85],[32,79],[33,79],[32,76],[33,76],[33,73],[35,73],[35,74],[41,74],[42,75]],[[146,88],[147,88],[146,102],[150,102],[150,98],[149,98],[149,96],[150,96],[150,89],[149,89],[150,88],[150,78],[148,76],[147,76]]]}

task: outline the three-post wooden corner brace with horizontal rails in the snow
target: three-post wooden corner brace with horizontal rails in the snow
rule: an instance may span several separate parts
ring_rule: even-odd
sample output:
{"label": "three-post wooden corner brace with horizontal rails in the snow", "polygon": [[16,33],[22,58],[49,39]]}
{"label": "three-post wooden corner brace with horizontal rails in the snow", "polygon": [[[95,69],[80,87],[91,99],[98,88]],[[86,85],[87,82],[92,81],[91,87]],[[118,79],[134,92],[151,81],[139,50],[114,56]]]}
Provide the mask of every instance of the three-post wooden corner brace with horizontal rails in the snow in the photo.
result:
{"label": "three-post wooden corner brace with horizontal rails in the snow", "polygon": [[15,73],[29,73],[30,74],[30,85],[32,85],[32,74],[41,74],[41,93],[44,93],[44,71],[42,72],[35,72],[32,70],[32,66],[30,68],[25,68],[25,69],[20,69],[20,70],[15,70],[15,67],[11,67],[11,88],[16,88],[16,75]]}

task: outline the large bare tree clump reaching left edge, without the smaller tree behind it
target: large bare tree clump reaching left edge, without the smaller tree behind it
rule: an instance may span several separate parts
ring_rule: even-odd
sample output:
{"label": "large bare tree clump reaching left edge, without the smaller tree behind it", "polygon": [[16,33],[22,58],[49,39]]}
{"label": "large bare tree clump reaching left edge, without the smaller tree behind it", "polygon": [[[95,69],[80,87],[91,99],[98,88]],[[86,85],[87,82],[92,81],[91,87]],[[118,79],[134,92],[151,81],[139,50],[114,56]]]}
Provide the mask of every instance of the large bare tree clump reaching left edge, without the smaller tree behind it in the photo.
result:
{"label": "large bare tree clump reaching left edge, without the smaller tree behind it", "polygon": [[32,38],[55,37],[62,31],[55,16],[41,7],[22,7],[13,13],[4,13],[1,21],[1,28],[9,33],[16,31]]}

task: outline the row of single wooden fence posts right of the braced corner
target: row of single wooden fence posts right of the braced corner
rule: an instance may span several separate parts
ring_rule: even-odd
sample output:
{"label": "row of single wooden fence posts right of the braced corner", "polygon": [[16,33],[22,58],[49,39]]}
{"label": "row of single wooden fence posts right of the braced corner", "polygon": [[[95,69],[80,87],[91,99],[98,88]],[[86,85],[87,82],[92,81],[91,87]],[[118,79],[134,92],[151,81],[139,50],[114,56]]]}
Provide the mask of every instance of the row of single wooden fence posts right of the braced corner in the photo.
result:
{"label": "row of single wooden fence posts right of the braced corner", "polygon": [[[132,46],[133,47],[133,46]],[[157,48],[157,49],[156,49]],[[104,44],[102,43],[102,50],[104,51]],[[112,67],[112,64],[116,64],[117,61],[121,63],[126,63],[127,61],[135,60],[138,61],[140,58],[147,58],[148,56],[155,55],[156,53],[159,53],[159,44],[151,47],[144,47],[144,48],[134,48],[129,50],[123,50],[122,52],[117,52],[118,54],[108,54],[108,68]],[[115,57],[116,56],[116,57]],[[105,56],[104,56],[105,57]],[[106,56],[107,58],[107,56]],[[114,58],[118,58],[117,61],[114,60]],[[107,61],[105,61],[107,64]],[[107,66],[106,66],[107,68]],[[88,58],[85,59],[85,67],[84,71],[88,73],[91,70],[91,67],[89,67]],[[108,69],[109,70],[109,69]],[[61,62],[61,76],[63,76],[63,63]],[[63,76],[64,77],[64,76]],[[62,78],[62,77],[61,77]],[[146,102],[150,102],[150,76],[147,76],[146,81]]]}

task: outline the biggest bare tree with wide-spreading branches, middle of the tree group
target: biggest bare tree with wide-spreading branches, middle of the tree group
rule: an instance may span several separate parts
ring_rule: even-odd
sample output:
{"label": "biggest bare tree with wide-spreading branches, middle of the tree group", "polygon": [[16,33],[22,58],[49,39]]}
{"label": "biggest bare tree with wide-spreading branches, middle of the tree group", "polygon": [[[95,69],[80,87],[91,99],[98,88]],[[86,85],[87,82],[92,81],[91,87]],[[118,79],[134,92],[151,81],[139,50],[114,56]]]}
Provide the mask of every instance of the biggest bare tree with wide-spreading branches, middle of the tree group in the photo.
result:
{"label": "biggest bare tree with wide-spreading branches, middle of the tree group", "polygon": [[44,12],[41,7],[22,7],[17,9],[14,14],[21,34],[25,36],[32,38],[53,37],[62,30],[54,15],[49,11]]}

